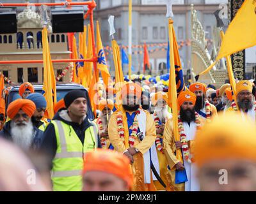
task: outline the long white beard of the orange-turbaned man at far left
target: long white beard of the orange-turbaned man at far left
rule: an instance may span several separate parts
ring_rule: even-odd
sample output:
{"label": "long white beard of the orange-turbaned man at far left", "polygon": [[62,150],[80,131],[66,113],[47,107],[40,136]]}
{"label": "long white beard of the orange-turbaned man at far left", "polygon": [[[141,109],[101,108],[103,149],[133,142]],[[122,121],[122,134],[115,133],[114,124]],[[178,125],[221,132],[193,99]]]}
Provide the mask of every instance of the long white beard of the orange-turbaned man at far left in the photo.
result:
{"label": "long white beard of the orange-turbaned man at far left", "polygon": [[11,135],[13,142],[23,150],[28,150],[31,147],[33,141],[33,124],[29,119],[29,122],[25,126],[17,126],[15,122],[11,122]]}

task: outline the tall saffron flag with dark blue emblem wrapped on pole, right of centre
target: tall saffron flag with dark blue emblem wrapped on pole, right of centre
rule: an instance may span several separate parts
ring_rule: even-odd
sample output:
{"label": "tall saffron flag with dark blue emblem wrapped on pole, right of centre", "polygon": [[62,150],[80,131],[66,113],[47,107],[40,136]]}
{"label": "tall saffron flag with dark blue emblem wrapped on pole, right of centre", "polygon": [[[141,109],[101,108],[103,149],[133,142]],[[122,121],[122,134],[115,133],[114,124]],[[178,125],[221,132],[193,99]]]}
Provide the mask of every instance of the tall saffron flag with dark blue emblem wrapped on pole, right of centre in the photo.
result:
{"label": "tall saffron flag with dark blue emblem wrapped on pole, right of centre", "polygon": [[[173,114],[173,133],[175,141],[180,141],[180,135],[178,130],[178,99],[177,94],[185,91],[184,78],[182,68],[180,64],[179,50],[175,37],[175,31],[173,27],[172,19],[169,19],[169,50],[170,50],[170,77],[169,77],[169,89],[168,89],[168,105],[172,107]],[[179,150],[176,151],[176,157],[179,161],[182,160],[182,153]]]}

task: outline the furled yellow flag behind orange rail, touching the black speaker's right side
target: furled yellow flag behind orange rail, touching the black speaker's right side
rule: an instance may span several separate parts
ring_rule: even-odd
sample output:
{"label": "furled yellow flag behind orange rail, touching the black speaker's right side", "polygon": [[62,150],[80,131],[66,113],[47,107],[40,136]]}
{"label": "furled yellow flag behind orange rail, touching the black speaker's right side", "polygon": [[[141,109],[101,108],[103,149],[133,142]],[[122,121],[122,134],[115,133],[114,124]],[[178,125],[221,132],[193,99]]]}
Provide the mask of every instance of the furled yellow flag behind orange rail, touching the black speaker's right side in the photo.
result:
{"label": "furled yellow flag behind orange rail, touching the black speaker's right side", "polygon": [[[87,46],[86,46],[86,36],[87,36],[87,27],[84,26],[84,32],[79,33],[79,58],[85,59],[87,54]],[[78,76],[81,78],[81,83],[84,87],[88,87],[88,84],[86,82],[86,76],[84,70],[86,69],[85,62],[80,62],[81,66],[83,66],[83,69],[80,68],[78,70]]]}

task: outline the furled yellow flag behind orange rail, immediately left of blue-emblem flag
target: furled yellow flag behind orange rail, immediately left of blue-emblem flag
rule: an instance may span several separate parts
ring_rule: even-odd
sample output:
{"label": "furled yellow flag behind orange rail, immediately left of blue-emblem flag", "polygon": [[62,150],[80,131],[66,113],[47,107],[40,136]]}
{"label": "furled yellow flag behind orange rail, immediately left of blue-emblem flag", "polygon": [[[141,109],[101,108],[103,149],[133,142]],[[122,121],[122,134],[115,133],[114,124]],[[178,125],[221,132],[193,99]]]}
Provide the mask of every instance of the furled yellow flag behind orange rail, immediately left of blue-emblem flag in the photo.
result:
{"label": "furled yellow flag behind orange rail, immediately left of blue-emblem flag", "polygon": [[[88,43],[87,43],[87,54],[86,59],[90,59],[93,57],[92,51],[92,32],[91,26],[88,25]],[[84,75],[86,83],[89,85],[92,80],[92,66],[93,62],[84,62]]]}

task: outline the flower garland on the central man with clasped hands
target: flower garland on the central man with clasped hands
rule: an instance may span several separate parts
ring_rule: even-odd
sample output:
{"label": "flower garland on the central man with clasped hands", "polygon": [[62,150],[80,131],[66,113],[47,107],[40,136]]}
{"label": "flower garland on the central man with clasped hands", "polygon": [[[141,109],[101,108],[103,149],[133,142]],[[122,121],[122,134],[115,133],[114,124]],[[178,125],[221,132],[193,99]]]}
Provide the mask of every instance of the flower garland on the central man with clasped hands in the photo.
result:
{"label": "flower garland on the central man with clasped hands", "polygon": [[[135,139],[138,137],[137,132],[138,132],[138,120],[137,120],[137,115],[140,114],[140,110],[136,111],[136,116],[134,118],[134,122],[132,123],[131,129],[132,133],[129,135],[129,147],[134,146]],[[125,143],[125,138],[124,138],[124,124],[123,124],[123,114],[122,112],[118,112],[116,116],[116,123],[117,123],[117,132],[118,135],[120,136],[122,142]]]}

